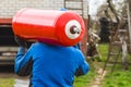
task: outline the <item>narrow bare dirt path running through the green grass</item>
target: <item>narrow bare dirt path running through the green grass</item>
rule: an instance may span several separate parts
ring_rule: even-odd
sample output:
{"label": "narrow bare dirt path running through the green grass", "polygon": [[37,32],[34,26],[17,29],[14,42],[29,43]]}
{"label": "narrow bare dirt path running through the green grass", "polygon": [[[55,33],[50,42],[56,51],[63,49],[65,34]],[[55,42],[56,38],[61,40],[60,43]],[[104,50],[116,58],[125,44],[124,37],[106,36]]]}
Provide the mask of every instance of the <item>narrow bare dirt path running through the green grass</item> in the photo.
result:
{"label": "narrow bare dirt path running through the green grass", "polygon": [[103,69],[99,69],[97,71],[98,75],[96,76],[96,78],[92,83],[91,87],[100,87],[102,80],[103,80],[104,76],[106,75],[106,71],[104,71],[103,75],[102,75],[102,72],[103,72]]}

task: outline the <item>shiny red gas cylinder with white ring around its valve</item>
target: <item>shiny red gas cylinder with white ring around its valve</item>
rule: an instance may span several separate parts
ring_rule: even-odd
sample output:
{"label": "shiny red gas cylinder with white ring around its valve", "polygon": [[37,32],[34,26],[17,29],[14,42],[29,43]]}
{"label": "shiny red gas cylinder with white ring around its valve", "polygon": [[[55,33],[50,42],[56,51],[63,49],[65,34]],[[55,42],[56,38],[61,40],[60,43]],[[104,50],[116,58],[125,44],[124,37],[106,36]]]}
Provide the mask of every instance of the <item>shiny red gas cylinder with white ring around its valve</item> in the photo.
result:
{"label": "shiny red gas cylinder with white ring around its valve", "polygon": [[13,17],[13,32],[25,40],[74,46],[84,35],[85,25],[71,11],[22,9]]}

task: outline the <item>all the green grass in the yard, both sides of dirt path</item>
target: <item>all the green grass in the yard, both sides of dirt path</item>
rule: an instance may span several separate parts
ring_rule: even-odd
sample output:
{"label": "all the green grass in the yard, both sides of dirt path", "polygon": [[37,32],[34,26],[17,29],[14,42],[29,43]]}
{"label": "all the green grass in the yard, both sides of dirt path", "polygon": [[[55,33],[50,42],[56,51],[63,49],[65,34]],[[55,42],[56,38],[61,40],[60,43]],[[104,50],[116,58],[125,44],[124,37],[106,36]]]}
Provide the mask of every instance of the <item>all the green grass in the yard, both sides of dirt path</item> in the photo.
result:
{"label": "all the green grass in the yard, both sides of dirt path", "polygon": [[[102,62],[87,62],[91,65],[91,70],[86,75],[75,77],[74,87],[92,87],[95,77],[97,76],[97,67],[103,67],[105,60],[107,59],[108,53],[108,45],[100,44],[98,46],[99,53],[102,54]],[[131,55],[128,55],[131,58]],[[128,59],[131,61],[131,59]],[[102,80],[100,87],[131,87],[131,65],[129,65],[129,70],[122,70],[121,64],[116,64],[114,73],[110,73],[110,69],[107,69],[107,74],[105,78]],[[13,87],[14,79],[13,78],[0,78],[0,87]]]}

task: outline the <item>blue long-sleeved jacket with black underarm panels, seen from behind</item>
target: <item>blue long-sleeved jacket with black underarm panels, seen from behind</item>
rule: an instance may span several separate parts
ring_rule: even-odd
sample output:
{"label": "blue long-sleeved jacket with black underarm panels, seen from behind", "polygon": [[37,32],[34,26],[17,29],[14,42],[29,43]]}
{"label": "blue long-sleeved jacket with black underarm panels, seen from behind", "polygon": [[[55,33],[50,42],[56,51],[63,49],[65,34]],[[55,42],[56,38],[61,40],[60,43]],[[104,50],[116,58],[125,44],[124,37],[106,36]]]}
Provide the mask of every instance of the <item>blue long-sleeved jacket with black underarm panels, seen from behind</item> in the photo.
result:
{"label": "blue long-sleeved jacket with black underarm panels, seen from behind", "polygon": [[84,75],[90,66],[81,50],[74,47],[36,42],[27,51],[21,47],[15,58],[15,73],[32,74],[32,87],[73,87],[79,69]]}

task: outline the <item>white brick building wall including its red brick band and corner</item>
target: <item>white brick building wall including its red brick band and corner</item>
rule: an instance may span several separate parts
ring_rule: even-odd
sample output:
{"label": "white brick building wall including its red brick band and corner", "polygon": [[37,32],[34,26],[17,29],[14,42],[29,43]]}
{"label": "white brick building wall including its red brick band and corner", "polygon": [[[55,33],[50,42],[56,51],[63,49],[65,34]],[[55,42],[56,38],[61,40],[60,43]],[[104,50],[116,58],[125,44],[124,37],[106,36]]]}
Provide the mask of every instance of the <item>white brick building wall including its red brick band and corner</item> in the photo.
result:
{"label": "white brick building wall including its red brick band and corner", "polygon": [[[84,22],[87,27],[87,0],[83,0]],[[80,3],[71,2],[68,7],[79,8]],[[59,10],[64,8],[64,0],[0,0],[0,23],[11,23],[13,15],[23,8],[33,8],[41,10]],[[79,11],[76,11],[80,13]],[[87,29],[86,29],[87,30]],[[81,49],[86,55],[87,32],[82,39]]]}

